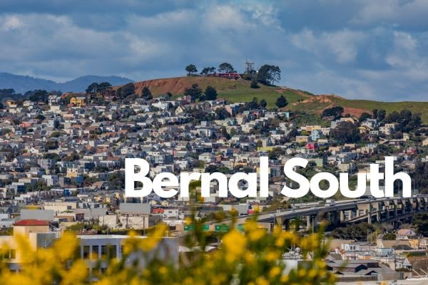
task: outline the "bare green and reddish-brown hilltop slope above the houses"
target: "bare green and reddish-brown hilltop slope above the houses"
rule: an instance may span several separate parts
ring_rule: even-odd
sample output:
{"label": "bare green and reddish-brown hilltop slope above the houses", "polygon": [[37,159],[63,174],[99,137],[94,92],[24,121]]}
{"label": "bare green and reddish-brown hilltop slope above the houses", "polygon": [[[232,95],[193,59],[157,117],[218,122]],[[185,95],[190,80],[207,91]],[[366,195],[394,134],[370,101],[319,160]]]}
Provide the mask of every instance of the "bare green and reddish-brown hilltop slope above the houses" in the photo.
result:
{"label": "bare green and reddish-brown hilltop slope above the houses", "polygon": [[134,83],[136,92],[141,93],[144,86],[147,86],[154,96],[165,93],[181,95],[185,88],[190,87],[193,83],[205,89],[207,86],[213,86],[218,91],[219,98],[225,98],[230,102],[245,102],[252,100],[254,97],[267,101],[267,107],[275,107],[275,101],[279,95],[284,95],[289,104],[286,109],[295,111],[305,111],[309,113],[322,113],[325,108],[340,105],[345,108],[345,113],[359,116],[364,112],[371,113],[374,108],[384,109],[387,113],[392,111],[401,111],[407,109],[412,113],[421,113],[424,123],[428,123],[428,102],[379,102],[374,100],[351,100],[342,98],[337,95],[314,95],[306,91],[280,88],[260,85],[260,88],[250,88],[250,81],[230,80],[225,78],[190,76],[161,78],[149,81],[140,81]]}

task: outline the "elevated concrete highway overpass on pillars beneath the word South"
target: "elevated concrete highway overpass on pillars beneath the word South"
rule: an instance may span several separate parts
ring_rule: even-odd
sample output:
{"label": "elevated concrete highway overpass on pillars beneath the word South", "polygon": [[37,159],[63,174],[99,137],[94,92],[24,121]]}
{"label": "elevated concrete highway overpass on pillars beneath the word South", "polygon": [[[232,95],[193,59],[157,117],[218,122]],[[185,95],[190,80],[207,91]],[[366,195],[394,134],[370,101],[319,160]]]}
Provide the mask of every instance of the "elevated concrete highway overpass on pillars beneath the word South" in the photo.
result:
{"label": "elevated concrete highway overpass on pillars beneath the word South", "polygon": [[[398,227],[400,223],[410,222],[417,212],[428,212],[428,195],[340,200],[331,204],[294,204],[291,209],[260,213],[257,220],[265,224],[282,224],[285,229],[290,229],[292,223],[296,230],[300,229],[301,224],[305,224],[307,229],[315,230],[322,220],[337,226],[357,222],[390,222]],[[243,224],[249,217],[238,217],[236,224]],[[228,222],[230,219],[211,224]]]}

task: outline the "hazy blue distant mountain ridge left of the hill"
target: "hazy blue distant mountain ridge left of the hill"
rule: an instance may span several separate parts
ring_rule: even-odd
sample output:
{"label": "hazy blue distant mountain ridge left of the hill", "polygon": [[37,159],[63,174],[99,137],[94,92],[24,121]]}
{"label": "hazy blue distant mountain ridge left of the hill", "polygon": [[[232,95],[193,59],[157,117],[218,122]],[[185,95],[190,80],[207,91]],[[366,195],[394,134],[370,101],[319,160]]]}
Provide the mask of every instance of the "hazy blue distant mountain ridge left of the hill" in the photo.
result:
{"label": "hazy blue distant mountain ridge left of the hill", "polygon": [[0,73],[0,89],[13,88],[16,93],[25,93],[29,90],[60,90],[61,92],[83,92],[93,82],[109,82],[112,86],[120,86],[133,82],[131,79],[119,76],[81,76],[71,81],[56,83],[31,76],[18,76],[11,73]]}

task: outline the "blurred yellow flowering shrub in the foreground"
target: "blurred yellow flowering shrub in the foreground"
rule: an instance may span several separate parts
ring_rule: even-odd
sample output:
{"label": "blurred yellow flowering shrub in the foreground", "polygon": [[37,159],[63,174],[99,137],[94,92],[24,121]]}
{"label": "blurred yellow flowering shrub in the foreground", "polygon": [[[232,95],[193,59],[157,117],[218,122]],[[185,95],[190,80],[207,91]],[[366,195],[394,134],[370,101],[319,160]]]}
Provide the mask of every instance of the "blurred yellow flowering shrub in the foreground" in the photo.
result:
{"label": "blurred yellow flowering shrub in the foreground", "polygon": [[[204,232],[197,219],[187,222],[195,225],[184,237],[188,248],[205,249],[215,238],[214,233]],[[234,222],[232,222],[234,225]],[[54,246],[34,252],[23,238],[16,239],[21,252],[22,268],[11,272],[1,262],[0,280],[9,285],[39,284],[332,284],[323,257],[327,254],[322,235],[298,237],[292,232],[275,227],[272,234],[258,227],[255,219],[245,222],[243,232],[231,227],[217,236],[220,247],[214,252],[195,250],[180,254],[178,264],[149,257],[156,250],[162,237],[167,234],[164,224],[158,225],[147,238],[136,237],[130,232],[123,244],[121,259],[106,257],[106,271],[92,270],[80,257],[78,239],[64,234]],[[303,254],[310,254],[307,264],[285,271],[281,257],[292,247],[300,247]],[[143,252],[146,259],[142,267],[129,262],[131,254]]]}

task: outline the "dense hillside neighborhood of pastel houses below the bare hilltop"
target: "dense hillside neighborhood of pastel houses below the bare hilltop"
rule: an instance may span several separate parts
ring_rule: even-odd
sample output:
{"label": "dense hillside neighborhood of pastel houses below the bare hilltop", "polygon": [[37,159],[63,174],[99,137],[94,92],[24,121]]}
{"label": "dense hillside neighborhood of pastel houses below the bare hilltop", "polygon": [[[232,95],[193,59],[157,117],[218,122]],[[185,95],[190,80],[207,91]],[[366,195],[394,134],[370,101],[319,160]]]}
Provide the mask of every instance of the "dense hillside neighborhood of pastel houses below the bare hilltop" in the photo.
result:
{"label": "dense hillside neighborhood of pastel houses below the bare hilltop", "polygon": [[[277,108],[267,108],[266,100],[257,98],[231,103],[209,87],[204,91],[193,84],[184,94],[156,97],[147,87],[137,93],[133,83],[118,87],[93,83],[86,93],[35,90],[26,99],[4,101],[0,240],[11,239],[13,228],[13,234],[22,232],[34,239],[35,247],[49,247],[63,232],[71,231],[81,239],[84,259],[89,251],[103,254],[111,242],[117,246],[115,256],[120,256],[123,236],[115,233],[125,234],[128,229],[144,233],[165,222],[171,232],[165,243],[175,247],[178,258],[177,239],[191,230],[185,218],[194,211],[198,219],[210,222],[218,211],[227,217],[233,211],[246,216],[299,203],[325,203],[311,196],[280,195],[283,185],[298,186],[282,170],[292,157],[310,160],[299,170],[307,177],[322,170],[350,174],[352,188],[357,172],[370,171],[373,162],[381,164],[382,172],[384,156],[393,155],[396,169],[412,174],[413,195],[428,193],[424,177],[428,128],[419,114],[376,109],[356,118],[340,106],[326,108],[322,114],[305,113],[289,110],[287,95],[281,93],[275,98]],[[269,157],[267,198],[220,198],[215,182],[211,197],[196,203],[179,196],[161,199],[153,194],[136,199],[124,195],[127,157],[147,160],[153,177],[161,172],[257,172],[260,156]],[[399,189],[397,183],[397,196]],[[261,226],[271,229],[269,224]],[[411,224],[370,231],[373,234],[370,238],[367,234],[366,240],[345,234],[344,239],[333,239],[327,261],[334,274],[349,280],[374,280],[370,279],[373,273],[389,274],[392,279],[404,278],[403,272],[424,274],[427,232]],[[302,227],[300,232],[310,228]],[[386,234],[394,238],[382,239]],[[16,252],[6,255],[11,269],[18,270]],[[345,268],[344,260],[350,260]]]}

